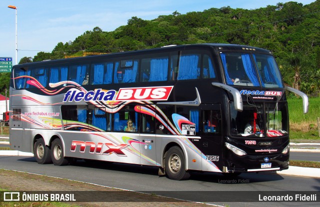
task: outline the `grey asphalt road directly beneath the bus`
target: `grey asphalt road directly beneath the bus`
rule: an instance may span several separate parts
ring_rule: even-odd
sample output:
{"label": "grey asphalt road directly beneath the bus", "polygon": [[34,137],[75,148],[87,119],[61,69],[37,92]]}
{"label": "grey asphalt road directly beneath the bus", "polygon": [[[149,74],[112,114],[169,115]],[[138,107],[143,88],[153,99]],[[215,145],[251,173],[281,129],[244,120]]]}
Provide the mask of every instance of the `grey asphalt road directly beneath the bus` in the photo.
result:
{"label": "grey asphalt road directly beneath the bus", "polygon": [[[233,191],[233,194],[240,191],[320,191],[320,179],[274,173],[242,173],[240,176],[228,178],[217,173],[194,172],[189,180],[176,181],[170,180],[165,176],[158,176],[156,167],[98,161],[94,163],[77,161],[75,164],[67,166],[41,165],[33,157],[23,156],[0,156],[0,168],[62,177],[134,191],[156,192],[158,195],[162,194],[224,205],[226,203],[212,202],[214,191]],[[233,183],[230,183],[231,181]],[[233,204],[231,206],[234,206]],[[269,204],[271,203],[267,205]],[[288,206],[288,203],[277,202],[275,204],[275,206]],[[265,206],[266,203],[250,202],[243,204],[237,202],[235,205]],[[314,206],[314,203],[290,202],[289,205]]]}

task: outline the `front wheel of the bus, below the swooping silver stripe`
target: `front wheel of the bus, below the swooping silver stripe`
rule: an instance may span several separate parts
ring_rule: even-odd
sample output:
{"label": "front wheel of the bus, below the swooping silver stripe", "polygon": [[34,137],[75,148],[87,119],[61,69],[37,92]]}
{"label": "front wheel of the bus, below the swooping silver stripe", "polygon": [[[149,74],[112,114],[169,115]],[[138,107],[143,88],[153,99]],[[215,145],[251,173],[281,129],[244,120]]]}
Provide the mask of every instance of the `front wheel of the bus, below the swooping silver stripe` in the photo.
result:
{"label": "front wheel of the bus, below the swooping silver stripe", "polygon": [[185,158],[183,151],[178,146],[172,146],[166,151],[164,166],[165,173],[170,179],[183,180],[190,177],[190,173],[185,170]]}

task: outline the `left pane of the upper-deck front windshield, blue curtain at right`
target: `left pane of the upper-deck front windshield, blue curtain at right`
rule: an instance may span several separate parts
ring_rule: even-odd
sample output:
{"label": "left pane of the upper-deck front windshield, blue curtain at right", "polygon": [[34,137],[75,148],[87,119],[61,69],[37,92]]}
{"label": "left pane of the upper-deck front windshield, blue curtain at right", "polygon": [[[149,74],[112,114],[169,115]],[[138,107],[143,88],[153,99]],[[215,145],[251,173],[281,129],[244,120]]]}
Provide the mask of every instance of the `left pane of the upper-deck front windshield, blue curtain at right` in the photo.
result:
{"label": "left pane of the upper-deck front windshield, blue curtain at right", "polygon": [[221,52],[226,83],[229,85],[259,86],[258,75],[250,54]]}

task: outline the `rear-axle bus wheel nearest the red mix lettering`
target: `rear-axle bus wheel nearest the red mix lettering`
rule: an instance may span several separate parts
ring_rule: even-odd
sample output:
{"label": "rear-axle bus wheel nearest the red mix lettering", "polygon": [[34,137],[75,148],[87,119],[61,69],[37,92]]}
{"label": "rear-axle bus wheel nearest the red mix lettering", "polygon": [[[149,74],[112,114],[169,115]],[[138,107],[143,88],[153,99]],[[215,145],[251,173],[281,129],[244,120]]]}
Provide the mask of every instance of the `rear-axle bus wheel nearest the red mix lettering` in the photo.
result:
{"label": "rear-axle bus wheel nearest the red mix lettering", "polygon": [[68,164],[68,159],[64,157],[63,145],[59,138],[56,138],[51,143],[51,159],[54,165],[66,165]]}

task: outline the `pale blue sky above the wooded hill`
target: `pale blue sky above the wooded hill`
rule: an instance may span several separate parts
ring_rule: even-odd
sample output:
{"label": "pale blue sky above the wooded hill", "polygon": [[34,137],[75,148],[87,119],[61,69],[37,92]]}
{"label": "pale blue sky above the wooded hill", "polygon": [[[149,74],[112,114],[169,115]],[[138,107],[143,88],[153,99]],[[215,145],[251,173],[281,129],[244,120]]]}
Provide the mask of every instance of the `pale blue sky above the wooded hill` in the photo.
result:
{"label": "pale blue sky above the wooded hill", "polygon": [[[15,64],[15,11],[17,11],[17,62],[39,51],[51,52],[58,42],[73,41],[95,26],[113,31],[137,16],[144,20],[209,8],[255,9],[290,0],[1,0],[0,57]],[[291,0],[303,5],[315,0]],[[8,8],[14,5],[17,10]]]}

